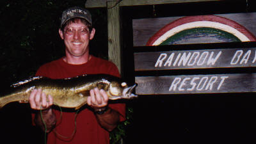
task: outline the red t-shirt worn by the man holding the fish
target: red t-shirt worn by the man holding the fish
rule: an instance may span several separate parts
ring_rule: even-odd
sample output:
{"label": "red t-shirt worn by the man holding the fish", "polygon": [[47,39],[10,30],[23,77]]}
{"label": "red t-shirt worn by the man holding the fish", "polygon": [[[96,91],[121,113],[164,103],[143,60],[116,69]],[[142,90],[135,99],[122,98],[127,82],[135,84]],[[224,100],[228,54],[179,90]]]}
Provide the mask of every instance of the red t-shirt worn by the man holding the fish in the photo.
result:
{"label": "red t-shirt worn by the man holding the fish", "polygon": [[[63,61],[63,58],[42,65],[36,72],[36,76],[50,77],[52,79],[63,79],[67,77],[81,76],[83,74],[109,74],[120,76],[116,66],[107,60],[92,56],[91,60],[82,65],[70,65]],[[120,121],[125,120],[125,104],[109,104],[109,107],[118,111]],[[53,109],[57,120],[60,118],[60,111]],[[61,120],[57,121],[56,131],[62,136],[71,136],[74,131],[75,114],[62,112]],[[48,134],[47,144],[108,144],[109,132],[100,127],[93,111],[88,108],[79,111],[76,118],[76,134],[73,138],[61,138],[54,131]]]}

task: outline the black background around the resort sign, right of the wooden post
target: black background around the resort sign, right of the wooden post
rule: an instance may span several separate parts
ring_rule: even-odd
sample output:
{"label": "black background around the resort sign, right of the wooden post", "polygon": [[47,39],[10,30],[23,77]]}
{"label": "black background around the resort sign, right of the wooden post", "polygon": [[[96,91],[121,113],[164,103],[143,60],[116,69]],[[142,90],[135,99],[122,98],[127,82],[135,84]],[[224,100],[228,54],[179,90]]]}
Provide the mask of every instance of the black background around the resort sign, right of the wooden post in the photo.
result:
{"label": "black background around the resort sign, right of the wooden post", "polygon": [[[129,59],[138,51],[171,51],[172,47],[255,47],[255,42],[175,45],[169,49],[133,47],[132,19],[255,12],[255,1],[218,1],[122,8],[124,76],[250,73],[255,68],[158,70],[132,72]],[[162,47],[160,47],[162,48]],[[147,50],[148,49],[148,50]],[[168,50],[167,50],[168,49]],[[181,50],[181,49],[179,49]],[[129,56],[127,56],[127,54]],[[255,143],[255,93],[139,95],[128,102],[133,121],[125,143]]]}

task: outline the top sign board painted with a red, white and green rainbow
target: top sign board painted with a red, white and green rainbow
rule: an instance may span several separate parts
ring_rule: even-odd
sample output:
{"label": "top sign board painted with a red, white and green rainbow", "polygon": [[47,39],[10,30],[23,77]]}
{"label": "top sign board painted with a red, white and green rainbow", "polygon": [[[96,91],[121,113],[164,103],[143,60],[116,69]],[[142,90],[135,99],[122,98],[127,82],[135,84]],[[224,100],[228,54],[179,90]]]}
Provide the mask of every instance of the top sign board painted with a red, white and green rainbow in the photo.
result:
{"label": "top sign board painted with a red, white and green rainbow", "polygon": [[133,19],[133,45],[255,42],[255,15],[252,12]]}

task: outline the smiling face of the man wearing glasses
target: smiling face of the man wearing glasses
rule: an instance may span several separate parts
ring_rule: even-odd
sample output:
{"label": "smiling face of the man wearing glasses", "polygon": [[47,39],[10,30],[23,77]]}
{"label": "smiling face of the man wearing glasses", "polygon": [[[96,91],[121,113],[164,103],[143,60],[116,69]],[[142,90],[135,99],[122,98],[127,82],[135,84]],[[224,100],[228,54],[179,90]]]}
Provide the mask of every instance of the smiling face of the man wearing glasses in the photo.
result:
{"label": "smiling face of the man wearing glasses", "polygon": [[95,29],[90,33],[88,26],[77,20],[66,26],[64,31],[59,30],[59,33],[64,40],[66,54],[84,56],[89,53],[89,41],[92,40]]}

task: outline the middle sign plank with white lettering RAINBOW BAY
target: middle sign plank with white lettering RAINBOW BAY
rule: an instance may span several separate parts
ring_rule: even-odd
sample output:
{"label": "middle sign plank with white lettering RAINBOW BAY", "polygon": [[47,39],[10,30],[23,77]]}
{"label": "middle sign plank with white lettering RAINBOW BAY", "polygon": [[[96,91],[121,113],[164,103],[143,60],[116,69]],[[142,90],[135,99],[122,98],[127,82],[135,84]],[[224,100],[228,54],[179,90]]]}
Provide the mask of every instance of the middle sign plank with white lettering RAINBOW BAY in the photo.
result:
{"label": "middle sign plank with white lettering RAINBOW BAY", "polygon": [[134,53],[135,71],[227,67],[256,67],[256,47]]}

